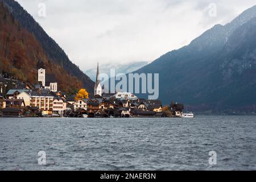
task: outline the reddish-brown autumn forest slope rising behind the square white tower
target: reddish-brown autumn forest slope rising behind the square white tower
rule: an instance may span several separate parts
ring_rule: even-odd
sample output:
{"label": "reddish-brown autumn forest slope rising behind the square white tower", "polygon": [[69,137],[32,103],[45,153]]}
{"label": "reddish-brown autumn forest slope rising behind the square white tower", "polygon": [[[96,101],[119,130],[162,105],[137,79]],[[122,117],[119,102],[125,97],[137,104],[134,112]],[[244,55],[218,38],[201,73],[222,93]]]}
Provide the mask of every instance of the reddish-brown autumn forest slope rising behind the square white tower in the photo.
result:
{"label": "reddish-brown autumn forest slope rising behind the square white tower", "polygon": [[35,83],[38,75],[36,60],[43,61],[47,72],[55,73],[59,89],[72,94],[81,88],[82,82],[50,61],[35,36],[21,27],[0,2],[0,73]]}

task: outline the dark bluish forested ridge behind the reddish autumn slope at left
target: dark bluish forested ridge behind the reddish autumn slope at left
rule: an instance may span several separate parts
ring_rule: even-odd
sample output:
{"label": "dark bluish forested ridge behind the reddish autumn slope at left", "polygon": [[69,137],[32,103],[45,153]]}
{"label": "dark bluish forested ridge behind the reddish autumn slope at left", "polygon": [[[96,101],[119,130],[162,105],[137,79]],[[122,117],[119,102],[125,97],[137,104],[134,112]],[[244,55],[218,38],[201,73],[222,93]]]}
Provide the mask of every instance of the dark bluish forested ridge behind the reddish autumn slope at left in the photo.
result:
{"label": "dark bluish forested ridge behind the reddish autumn slope at left", "polygon": [[94,82],[86,76],[77,65],[73,64],[68,56],[65,54],[63,49],[50,38],[43,28],[32,18],[18,2],[14,0],[0,0],[3,1],[8,7],[11,14],[16,20],[20,23],[20,26],[26,28],[28,32],[34,34],[35,38],[42,45],[44,52],[48,56],[49,60],[60,65],[67,71],[71,73],[72,76],[75,76],[79,81],[82,82],[83,86],[89,91],[93,92]]}

